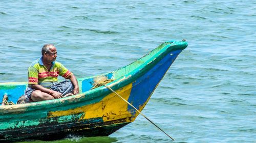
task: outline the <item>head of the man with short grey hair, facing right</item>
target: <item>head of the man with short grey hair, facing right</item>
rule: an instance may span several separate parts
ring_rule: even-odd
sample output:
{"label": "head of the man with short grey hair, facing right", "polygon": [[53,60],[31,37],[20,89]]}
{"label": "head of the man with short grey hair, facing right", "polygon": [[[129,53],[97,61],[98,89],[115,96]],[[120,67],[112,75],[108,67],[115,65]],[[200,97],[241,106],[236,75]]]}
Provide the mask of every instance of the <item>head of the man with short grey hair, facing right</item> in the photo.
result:
{"label": "head of the man with short grey hair, facing right", "polygon": [[47,62],[54,62],[57,58],[57,49],[53,44],[42,46],[42,57]]}

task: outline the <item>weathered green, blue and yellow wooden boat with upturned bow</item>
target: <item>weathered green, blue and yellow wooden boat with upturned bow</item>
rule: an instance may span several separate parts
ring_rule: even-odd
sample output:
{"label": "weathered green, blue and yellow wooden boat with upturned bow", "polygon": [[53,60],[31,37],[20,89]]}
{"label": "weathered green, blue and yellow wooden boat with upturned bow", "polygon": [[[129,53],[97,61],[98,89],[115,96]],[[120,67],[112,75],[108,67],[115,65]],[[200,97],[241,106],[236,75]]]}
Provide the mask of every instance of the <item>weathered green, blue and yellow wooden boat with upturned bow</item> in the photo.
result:
{"label": "weathered green, blue and yellow wooden boat with upturned bow", "polygon": [[[134,63],[99,76],[78,79],[80,93],[70,97],[0,106],[0,142],[28,139],[55,140],[68,135],[108,136],[133,122],[138,112],[104,86],[92,89],[97,79],[140,111],[144,108],[186,41],[167,41]],[[27,82],[0,83],[0,95],[17,101]]]}

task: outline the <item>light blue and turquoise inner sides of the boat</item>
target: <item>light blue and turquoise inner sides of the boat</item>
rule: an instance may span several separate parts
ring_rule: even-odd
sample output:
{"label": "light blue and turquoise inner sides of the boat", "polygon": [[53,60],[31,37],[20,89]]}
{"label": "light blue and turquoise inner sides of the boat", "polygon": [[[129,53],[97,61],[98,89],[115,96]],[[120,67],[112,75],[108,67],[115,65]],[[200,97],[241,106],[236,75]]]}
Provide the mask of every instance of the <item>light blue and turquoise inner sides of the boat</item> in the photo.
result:
{"label": "light blue and turquoise inner sides of the boat", "polygon": [[[85,78],[78,78],[79,90],[80,93],[87,92],[91,90],[95,83],[104,80],[104,79],[119,79],[131,72],[136,72],[140,69],[141,66],[145,66],[147,63],[155,58],[155,55],[160,53],[160,50],[163,49],[165,46],[169,46],[170,42],[165,42],[158,46],[156,49],[152,50],[150,53],[147,53],[139,60],[117,69],[116,71],[109,72],[106,74],[98,75],[98,76],[91,76]],[[24,95],[26,88],[28,87],[28,82],[6,82],[0,83],[0,101],[4,98],[4,95],[8,96],[8,101],[12,101],[16,104],[18,98]],[[1,104],[0,104],[1,105]]]}

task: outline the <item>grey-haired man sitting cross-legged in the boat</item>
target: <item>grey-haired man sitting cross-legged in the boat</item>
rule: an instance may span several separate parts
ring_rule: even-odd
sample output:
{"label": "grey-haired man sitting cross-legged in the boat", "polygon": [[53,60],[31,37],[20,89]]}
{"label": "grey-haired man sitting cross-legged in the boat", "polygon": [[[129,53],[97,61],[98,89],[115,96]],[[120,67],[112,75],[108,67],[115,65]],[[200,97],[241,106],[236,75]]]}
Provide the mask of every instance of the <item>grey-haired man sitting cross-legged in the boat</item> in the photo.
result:
{"label": "grey-haired man sitting cross-legged in the boat", "polygon": [[[26,98],[30,102],[36,102],[79,94],[75,75],[59,62],[55,62],[57,58],[56,47],[52,44],[46,44],[42,47],[41,53],[41,58],[34,61],[29,67]],[[66,80],[57,82],[58,75]]]}

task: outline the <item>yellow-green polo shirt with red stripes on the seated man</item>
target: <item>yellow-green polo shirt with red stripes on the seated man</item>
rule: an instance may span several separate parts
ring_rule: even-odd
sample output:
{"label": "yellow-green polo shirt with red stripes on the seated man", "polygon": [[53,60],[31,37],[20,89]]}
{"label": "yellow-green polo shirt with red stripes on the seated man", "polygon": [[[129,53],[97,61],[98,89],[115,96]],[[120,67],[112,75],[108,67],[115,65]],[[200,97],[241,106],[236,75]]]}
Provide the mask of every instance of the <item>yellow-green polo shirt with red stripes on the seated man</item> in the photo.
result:
{"label": "yellow-green polo shirt with red stripes on the seated man", "polygon": [[28,70],[29,84],[39,84],[50,88],[53,82],[58,81],[58,75],[68,78],[72,73],[59,62],[52,62],[50,71],[42,63],[42,57],[34,61]]}

